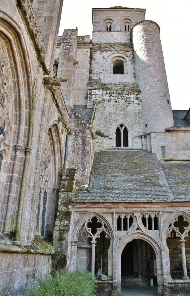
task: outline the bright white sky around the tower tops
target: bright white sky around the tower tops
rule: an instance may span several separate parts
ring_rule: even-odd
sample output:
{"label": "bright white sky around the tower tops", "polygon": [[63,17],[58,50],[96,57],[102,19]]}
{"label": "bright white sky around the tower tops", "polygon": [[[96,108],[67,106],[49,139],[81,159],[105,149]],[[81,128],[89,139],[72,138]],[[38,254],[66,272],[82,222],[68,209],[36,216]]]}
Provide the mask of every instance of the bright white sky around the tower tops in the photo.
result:
{"label": "bright white sky around the tower tops", "polygon": [[78,28],[92,38],[92,8],[145,8],[146,20],[160,26],[166,74],[173,110],[190,107],[190,0],[64,0],[59,36]]}

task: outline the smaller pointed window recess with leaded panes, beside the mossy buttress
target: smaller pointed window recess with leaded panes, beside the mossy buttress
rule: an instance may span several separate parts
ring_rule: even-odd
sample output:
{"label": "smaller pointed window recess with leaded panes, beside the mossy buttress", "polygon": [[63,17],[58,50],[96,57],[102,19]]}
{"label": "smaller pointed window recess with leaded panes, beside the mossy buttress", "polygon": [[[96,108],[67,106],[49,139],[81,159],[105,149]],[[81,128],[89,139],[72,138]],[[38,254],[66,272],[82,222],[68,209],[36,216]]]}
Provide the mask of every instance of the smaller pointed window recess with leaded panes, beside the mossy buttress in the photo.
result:
{"label": "smaller pointed window recess with leaded panes, beside the mossy buttress", "polygon": [[51,240],[58,206],[58,189],[61,179],[59,171],[63,168],[63,156],[58,123],[48,129],[45,136],[38,188],[36,215],[36,234]]}

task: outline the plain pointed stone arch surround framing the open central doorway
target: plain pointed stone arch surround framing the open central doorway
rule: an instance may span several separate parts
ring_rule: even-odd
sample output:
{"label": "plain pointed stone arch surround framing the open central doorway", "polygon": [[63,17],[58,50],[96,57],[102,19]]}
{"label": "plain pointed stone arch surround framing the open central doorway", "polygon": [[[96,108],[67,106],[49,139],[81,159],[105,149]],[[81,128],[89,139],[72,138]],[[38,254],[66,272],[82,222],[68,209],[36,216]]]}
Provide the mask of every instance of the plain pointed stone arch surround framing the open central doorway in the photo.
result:
{"label": "plain pointed stone arch surround framing the open central doorway", "polygon": [[119,289],[121,289],[121,254],[129,242],[132,242],[134,239],[141,239],[153,248],[155,254],[156,254],[156,263],[157,263],[157,283],[158,283],[158,290],[161,291],[162,289],[162,284],[163,284],[163,272],[162,272],[162,265],[161,265],[161,248],[160,245],[157,244],[157,242],[147,234],[143,234],[139,231],[135,231],[129,236],[124,237],[124,239],[121,240],[120,244],[117,247],[117,252],[116,252],[116,260],[117,260],[117,274],[116,274],[116,279],[117,279],[117,285]]}

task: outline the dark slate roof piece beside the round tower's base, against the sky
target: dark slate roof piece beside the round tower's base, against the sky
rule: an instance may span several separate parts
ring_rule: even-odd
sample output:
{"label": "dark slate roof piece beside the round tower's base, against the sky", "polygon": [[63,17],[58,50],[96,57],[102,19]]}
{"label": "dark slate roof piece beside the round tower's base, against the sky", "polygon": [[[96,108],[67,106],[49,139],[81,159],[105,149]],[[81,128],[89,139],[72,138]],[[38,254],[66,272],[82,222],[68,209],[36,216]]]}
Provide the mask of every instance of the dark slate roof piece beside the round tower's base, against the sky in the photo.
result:
{"label": "dark slate roof piece beside the round tower's base, against the sky", "polygon": [[190,130],[190,124],[183,118],[187,114],[188,110],[172,110],[174,126],[166,128],[166,131],[172,130]]}

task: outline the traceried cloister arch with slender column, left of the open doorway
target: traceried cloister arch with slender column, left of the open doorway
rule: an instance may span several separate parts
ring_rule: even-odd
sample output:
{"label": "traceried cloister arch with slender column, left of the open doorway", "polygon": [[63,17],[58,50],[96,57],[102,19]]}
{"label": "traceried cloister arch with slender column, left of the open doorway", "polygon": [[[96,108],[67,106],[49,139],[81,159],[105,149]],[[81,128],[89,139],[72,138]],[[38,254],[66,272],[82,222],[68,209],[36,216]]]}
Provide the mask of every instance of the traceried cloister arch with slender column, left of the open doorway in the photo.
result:
{"label": "traceried cloister arch with slender column, left of the open doorway", "polygon": [[[113,256],[113,238],[113,228],[102,214],[91,212],[83,216],[75,227],[72,241],[77,242],[74,252],[72,251],[72,255],[76,254],[77,258],[74,268],[86,268],[92,274],[96,274],[100,268],[103,274],[112,278],[112,263],[108,258]],[[71,263],[73,262],[71,258]],[[70,269],[72,270],[72,266]]]}

